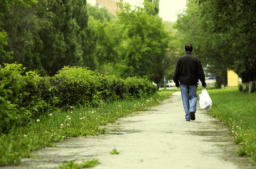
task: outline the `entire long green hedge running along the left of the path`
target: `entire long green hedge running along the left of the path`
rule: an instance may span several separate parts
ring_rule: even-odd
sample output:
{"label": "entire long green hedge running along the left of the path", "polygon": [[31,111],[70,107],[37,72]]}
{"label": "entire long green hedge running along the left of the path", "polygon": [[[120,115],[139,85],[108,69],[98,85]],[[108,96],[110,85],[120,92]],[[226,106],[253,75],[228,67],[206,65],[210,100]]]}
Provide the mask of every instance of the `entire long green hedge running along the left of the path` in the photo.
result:
{"label": "entire long green hedge running along the left of the path", "polygon": [[144,78],[122,79],[80,67],[66,66],[53,77],[25,72],[20,64],[5,64],[0,70],[0,132],[55,109],[97,106],[101,101],[134,99],[157,90]]}

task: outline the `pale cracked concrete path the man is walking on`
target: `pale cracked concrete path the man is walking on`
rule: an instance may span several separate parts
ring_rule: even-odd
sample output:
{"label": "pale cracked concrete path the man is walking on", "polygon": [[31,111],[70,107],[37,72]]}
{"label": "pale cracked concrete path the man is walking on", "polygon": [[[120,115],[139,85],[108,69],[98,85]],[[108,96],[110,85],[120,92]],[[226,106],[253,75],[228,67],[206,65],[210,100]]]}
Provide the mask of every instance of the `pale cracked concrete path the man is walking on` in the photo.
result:
{"label": "pale cracked concrete path the man is walking on", "polygon": [[[228,128],[199,110],[186,122],[180,92],[151,108],[107,127],[109,135],[71,138],[22,159],[11,168],[54,168],[59,163],[99,159],[103,168],[255,168],[238,157]],[[116,148],[120,154],[111,155]],[[10,168],[10,167],[3,167]]]}

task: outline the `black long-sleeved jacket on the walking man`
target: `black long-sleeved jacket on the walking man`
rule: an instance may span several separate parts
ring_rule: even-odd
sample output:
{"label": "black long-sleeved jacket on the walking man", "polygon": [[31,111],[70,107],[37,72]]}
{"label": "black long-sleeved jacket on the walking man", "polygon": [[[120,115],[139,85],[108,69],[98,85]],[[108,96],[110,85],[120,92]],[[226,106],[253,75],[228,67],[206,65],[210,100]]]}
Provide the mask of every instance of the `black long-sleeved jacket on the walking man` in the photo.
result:
{"label": "black long-sleeved jacket on the walking man", "polygon": [[192,55],[191,52],[186,52],[177,61],[173,81],[176,86],[180,86],[180,83],[184,85],[196,85],[198,79],[202,82],[202,86],[206,86],[206,78],[200,60]]}

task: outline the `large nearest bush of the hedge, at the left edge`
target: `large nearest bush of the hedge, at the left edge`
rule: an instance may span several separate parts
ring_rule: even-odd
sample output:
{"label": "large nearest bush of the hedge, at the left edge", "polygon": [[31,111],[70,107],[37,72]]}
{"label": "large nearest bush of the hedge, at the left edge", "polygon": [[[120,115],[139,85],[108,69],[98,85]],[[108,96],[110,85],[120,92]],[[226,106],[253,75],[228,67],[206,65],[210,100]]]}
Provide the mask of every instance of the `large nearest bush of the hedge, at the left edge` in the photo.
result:
{"label": "large nearest bush of the hedge, at the left edge", "polygon": [[20,64],[0,66],[0,132],[49,112],[57,103],[48,78],[24,72]]}

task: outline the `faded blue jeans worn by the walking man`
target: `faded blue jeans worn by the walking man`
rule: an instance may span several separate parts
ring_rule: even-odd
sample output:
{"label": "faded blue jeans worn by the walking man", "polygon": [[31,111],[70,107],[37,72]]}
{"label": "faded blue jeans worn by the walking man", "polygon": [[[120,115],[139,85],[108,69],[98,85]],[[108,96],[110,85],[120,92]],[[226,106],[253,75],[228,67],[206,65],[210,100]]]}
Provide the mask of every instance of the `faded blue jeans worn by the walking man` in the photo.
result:
{"label": "faded blue jeans worn by the walking man", "polygon": [[187,86],[181,84],[181,97],[186,114],[185,118],[186,120],[190,120],[190,112],[197,111],[197,85]]}

